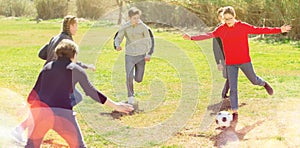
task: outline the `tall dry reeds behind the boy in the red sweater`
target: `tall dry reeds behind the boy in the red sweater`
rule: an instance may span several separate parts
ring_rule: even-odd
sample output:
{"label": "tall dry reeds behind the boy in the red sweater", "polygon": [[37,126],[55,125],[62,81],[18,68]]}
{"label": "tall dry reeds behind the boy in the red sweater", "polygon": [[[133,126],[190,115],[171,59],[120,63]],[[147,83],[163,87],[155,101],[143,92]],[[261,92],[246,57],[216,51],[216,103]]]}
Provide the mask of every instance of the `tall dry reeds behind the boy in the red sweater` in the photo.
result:
{"label": "tall dry reeds behind the boy in the red sweater", "polygon": [[[165,0],[166,2],[172,2]],[[208,26],[218,23],[216,11],[219,7],[233,6],[237,19],[255,26],[278,27],[284,24],[293,26],[289,38],[300,39],[299,0],[189,0],[176,1],[196,13]]]}

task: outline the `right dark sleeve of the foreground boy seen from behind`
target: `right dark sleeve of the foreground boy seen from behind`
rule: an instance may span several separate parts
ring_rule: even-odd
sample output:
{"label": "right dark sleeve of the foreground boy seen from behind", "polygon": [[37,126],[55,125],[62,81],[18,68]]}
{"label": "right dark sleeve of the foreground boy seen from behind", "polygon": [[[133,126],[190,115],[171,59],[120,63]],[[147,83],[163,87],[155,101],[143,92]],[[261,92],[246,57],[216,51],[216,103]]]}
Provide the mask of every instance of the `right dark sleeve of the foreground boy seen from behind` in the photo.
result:
{"label": "right dark sleeve of the foreground boy seen from behind", "polygon": [[93,100],[101,104],[104,104],[106,102],[107,97],[91,84],[85,71],[82,68],[74,68],[72,70],[72,78],[73,86],[75,86],[75,84],[79,82],[81,88],[87,96],[91,97]]}

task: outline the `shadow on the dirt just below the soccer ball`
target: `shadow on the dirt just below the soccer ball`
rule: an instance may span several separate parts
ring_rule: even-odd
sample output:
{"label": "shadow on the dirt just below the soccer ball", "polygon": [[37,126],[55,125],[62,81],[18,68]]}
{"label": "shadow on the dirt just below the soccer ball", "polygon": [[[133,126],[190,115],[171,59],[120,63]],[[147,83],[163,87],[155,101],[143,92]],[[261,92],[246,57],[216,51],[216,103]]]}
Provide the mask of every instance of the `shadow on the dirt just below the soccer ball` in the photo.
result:
{"label": "shadow on the dirt just below the soccer ball", "polygon": [[245,140],[244,137],[247,133],[261,125],[263,122],[264,120],[258,121],[252,125],[245,126],[238,131],[235,131],[233,128],[226,128],[218,135],[211,137],[210,140],[214,141],[214,146],[216,147],[222,147],[228,144],[237,146],[239,141]]}

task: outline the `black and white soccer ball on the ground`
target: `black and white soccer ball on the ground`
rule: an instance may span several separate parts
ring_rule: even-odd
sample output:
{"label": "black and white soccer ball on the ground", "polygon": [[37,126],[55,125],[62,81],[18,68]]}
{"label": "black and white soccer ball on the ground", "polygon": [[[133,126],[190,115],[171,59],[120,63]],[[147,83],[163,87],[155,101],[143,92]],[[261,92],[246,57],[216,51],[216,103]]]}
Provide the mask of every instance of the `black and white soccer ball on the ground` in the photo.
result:
{"label": "black and white soccer ball on the ground", "polygon": [[232,121],[232,114],[227,111],[220,111],[216,116],[216,123],[221,128],[227,128]]}

